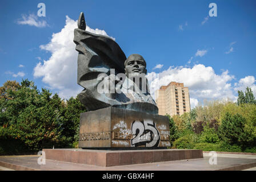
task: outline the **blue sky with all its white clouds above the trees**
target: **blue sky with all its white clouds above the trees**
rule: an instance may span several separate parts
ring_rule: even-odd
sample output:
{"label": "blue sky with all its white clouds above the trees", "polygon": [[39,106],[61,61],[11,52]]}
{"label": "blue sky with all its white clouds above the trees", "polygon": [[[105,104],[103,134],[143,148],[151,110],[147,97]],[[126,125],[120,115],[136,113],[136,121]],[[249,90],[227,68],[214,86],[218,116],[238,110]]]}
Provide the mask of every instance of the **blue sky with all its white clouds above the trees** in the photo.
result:
{"label": "blue sky with all its white clouds above the trees", "polygon": [[[45,17],[37,16],[41,2]],[[209,16],[211,2],[217,4],[217,17]],[[184,82],[193,106],[203,100],[235,100],[237,90],[246,86],[256,93],[255,5],[248,0],[2,0],[0,84],[29,78],[62,98],[81,91],[72,36],[83,11],[92,31],[115,38],[126,56],[141,54],[149,75],[159,77],[152,80],[158,86]]]}

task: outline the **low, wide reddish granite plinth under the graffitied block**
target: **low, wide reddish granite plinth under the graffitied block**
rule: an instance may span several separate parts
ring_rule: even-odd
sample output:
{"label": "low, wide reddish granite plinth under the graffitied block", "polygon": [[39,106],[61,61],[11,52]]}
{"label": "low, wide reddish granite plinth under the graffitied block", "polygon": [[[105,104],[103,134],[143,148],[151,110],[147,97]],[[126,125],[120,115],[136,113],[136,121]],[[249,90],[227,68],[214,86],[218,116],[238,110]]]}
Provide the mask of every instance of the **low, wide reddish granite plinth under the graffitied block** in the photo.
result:
{"label": "low, wide reddish granite plinth under the graffitied block", "polygon": [[46,159],[102,167],[203,158],[202,150],[165,149],[106,151],[83,149],[43,149],[43,151],[45,152]]}

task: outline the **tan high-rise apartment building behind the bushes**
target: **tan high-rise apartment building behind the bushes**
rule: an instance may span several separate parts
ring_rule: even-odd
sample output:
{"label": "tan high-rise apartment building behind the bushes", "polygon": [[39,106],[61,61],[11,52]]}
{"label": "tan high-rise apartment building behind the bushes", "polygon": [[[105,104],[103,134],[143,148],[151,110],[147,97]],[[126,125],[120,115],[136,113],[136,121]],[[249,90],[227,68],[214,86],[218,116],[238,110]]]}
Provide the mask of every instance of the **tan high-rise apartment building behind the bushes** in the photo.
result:
{"label": "tan high-rise apartment building behind the bushes", "polygon": [[183,83],[170,82],[155,92],[158,114],[182,115],[190,111],[189,88]]}

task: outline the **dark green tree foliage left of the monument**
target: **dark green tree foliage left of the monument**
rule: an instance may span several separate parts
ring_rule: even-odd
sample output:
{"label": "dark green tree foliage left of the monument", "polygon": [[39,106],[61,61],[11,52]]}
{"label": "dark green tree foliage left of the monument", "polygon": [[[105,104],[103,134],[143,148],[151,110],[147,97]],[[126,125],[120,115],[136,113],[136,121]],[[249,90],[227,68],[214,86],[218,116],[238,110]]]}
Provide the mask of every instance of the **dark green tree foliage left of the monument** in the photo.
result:
{"label": "dark green tree foliage left of the monument", "polygon": [[85,108],[77,99],[63,104],[58,94],[51,95],[27,79],[6,81],[0,87],[0,140],[15,140],[30,151],[74,142]]}

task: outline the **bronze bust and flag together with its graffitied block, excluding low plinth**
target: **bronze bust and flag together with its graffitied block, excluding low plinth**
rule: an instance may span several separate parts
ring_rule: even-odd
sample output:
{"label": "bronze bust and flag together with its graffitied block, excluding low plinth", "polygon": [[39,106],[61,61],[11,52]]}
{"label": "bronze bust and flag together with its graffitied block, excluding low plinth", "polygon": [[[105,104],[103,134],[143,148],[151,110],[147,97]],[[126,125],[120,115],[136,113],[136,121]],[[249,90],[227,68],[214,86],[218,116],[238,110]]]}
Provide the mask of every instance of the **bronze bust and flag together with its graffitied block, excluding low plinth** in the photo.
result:
{"label": "bronze bust and flag together with its graffitied block, excluding low plinth", "polygon": [[158,115],[141,55],[126,58],[111,38],[86,31],[83,13],[74,30],[78,51],[77,82],[84,90],[79,147],[167,147],[169,119]]}

